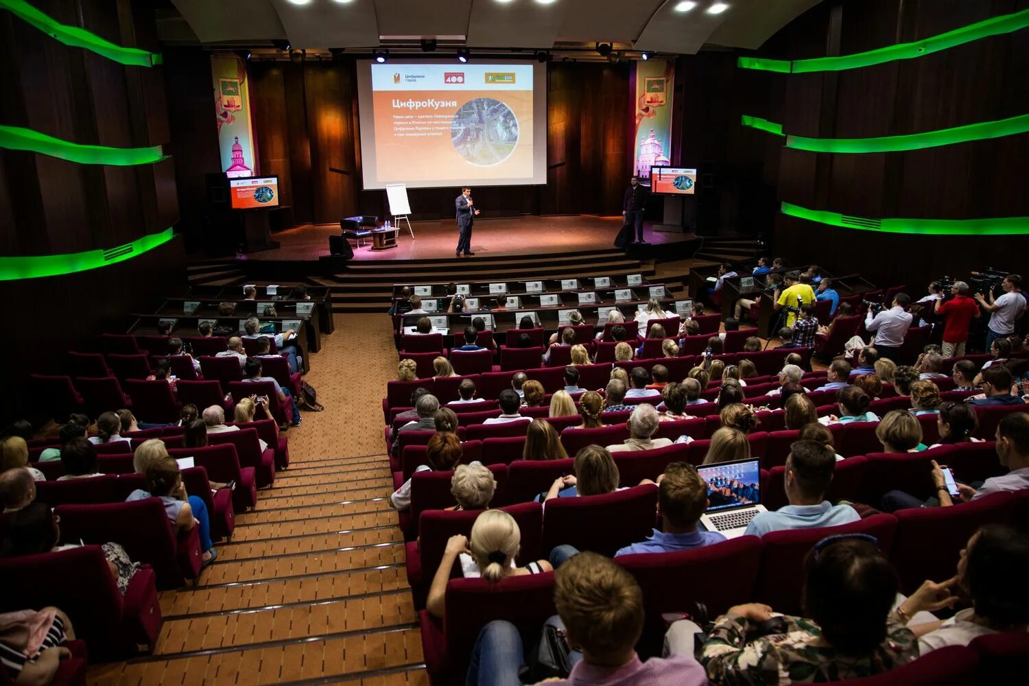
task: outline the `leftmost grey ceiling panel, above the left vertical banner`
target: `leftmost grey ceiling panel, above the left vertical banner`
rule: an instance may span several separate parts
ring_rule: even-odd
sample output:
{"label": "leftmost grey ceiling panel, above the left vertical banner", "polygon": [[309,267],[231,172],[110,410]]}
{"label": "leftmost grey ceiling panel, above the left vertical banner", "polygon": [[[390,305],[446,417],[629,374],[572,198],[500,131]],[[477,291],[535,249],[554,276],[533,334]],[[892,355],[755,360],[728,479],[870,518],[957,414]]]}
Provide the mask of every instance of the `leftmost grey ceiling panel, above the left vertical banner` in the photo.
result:
{"label": "leftmost grey ceiling panel, above the left vertical banner", "polygon": [[269,0],[173,0],[202,43],[271,40],[286,32]]}

